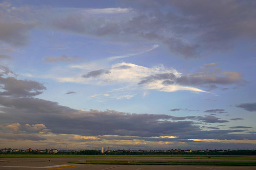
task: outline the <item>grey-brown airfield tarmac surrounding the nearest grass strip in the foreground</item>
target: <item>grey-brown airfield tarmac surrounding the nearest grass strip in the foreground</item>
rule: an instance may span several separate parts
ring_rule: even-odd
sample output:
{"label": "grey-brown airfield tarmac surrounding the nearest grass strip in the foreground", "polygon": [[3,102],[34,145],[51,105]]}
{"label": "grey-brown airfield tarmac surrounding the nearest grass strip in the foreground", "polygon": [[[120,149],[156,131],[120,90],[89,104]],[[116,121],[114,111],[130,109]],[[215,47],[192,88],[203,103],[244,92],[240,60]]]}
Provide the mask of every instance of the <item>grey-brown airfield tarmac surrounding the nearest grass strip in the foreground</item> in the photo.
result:
{"label": "grey-brown airfield tarmac surrounding the nearest grass strip in the foreground", "polygon": [[[197,161],[183,157],[72,157],[72,158],[0,158],[0,170],[256,170],[256,166],[208,166],[208,165],[90,165],[73,164],[68,161],[120,160],[120,161]],[[199,159],[198,161],[204,161]],[[256,161],[213,160],[205,161]]]}

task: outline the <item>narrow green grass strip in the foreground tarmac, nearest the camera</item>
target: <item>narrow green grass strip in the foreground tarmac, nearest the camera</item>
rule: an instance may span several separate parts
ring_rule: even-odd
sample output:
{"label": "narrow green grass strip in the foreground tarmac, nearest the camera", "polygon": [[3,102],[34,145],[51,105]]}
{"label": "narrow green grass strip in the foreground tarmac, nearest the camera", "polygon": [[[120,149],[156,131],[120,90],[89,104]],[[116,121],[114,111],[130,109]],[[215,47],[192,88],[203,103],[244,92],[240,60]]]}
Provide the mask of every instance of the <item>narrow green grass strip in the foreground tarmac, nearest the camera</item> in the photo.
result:
{"label": "narrow green grass strip in the foreground tarmac, nearest the camera", "polygon": [[221,165],[221,166],[256,166],[256,162],[233,161],[69,161],[82,164],[115,164],[115,165]]}

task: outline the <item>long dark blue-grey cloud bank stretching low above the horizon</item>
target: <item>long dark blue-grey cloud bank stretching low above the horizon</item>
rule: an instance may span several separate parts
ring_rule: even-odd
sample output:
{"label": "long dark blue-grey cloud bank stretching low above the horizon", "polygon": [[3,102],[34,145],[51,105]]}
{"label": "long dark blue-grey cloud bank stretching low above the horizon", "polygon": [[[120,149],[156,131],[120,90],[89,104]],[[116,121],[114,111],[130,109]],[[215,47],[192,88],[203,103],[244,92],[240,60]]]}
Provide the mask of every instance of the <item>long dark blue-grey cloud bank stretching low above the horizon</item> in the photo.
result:
{"label": "long dark blue-grey cloud bank stretching low above the horizon", "polygon": [[[255,139],[252,135],[230,134],[247,130],[201,130],[195,125],[197,120],[206,123],[225,123],[214,116],[174,117],[165,114],[130,114],[115,110],[81,111],[64,107],[56,102],[32,97],[0,96],[0,123],[19,122],[20,124],[44,124],[56,134],[76,134],[82,136],[179,136],[172,141],[183,139]],[[30,119],[27,119],[30,118]],[[186,121],[185,119],[190,119]],[[58,120],[58,121],[56,121]],[[166,139],[167,140],[167,139]],[[171,140],[171,139],[168,139]]]}

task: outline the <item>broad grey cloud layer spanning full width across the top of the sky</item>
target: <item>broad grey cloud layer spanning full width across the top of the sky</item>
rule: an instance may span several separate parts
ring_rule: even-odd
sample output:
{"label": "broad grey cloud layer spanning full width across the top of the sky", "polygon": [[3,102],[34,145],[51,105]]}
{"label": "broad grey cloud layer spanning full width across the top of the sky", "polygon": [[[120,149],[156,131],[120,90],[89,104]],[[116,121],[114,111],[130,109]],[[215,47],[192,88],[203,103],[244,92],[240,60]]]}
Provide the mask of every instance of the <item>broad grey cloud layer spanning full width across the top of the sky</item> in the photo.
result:
{"label": "broad grey cloud layer spanning full width across the top of the sky", "polygon": [[162,43],[190,59],[230,49],[238,38],[248,42],[256,38],[254,1],[127,1],[122,6],[51,8],[1,3],[0,40],[25,45],[27,33],[44,26],[107,41]]}

